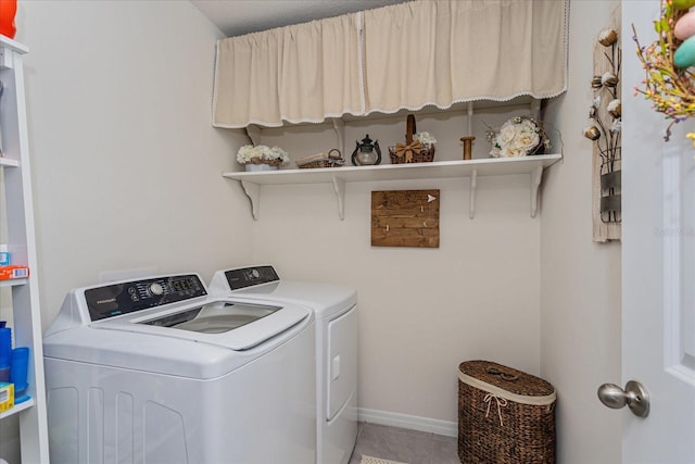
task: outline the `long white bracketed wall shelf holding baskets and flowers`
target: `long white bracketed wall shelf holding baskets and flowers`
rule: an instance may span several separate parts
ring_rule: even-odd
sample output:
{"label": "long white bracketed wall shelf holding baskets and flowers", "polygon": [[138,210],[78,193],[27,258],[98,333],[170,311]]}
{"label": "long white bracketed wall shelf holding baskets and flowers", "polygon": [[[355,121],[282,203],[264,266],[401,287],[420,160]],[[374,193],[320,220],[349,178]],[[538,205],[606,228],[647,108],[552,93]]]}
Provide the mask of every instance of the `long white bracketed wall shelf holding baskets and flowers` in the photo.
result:
{"label": "long white bracketed wall shelf holding baskets and flowers", "polygon": [[435,161],[432,163],[381,164],[377,166],[342,166],[316,170],[278,170],[232,172],[223,176],[241,183],[251,201],[254,220],[260,217],[261,186],[283,184],[332,184],[338,214],[344,218],[345,183],[413,180],[428,178],[470,178],[469,217],[476,212],[476,186],[482,176],[530,175],[531,217],[538,212],[539,187],[543,170],[561,160],[561,154],[522,158],[488,158],[470,161]]}

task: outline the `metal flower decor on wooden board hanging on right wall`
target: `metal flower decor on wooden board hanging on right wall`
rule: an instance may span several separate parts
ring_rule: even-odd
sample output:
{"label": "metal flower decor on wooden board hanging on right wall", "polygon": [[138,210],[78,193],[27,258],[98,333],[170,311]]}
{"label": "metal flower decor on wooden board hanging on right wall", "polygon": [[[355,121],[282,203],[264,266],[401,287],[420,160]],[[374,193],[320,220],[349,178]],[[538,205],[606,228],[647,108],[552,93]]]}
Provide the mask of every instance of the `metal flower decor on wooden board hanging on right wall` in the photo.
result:
{"label": "metal flower decor on wooden board hanging on right wall", "polygon": [[620,7],[598,34],[594,46],[594,100],[589,110],[591,123],[584,137],[593,147],[593,239],[619,240],[621,237],[621,151],[620,133]]}

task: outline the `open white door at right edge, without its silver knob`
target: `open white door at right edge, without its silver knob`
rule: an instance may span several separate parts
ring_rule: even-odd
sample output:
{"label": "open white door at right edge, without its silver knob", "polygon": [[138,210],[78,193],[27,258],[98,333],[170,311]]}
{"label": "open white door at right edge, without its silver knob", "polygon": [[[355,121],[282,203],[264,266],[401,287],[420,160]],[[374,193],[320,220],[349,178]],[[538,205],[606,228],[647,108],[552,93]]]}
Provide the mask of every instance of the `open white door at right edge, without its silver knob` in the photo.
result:
{"label": "open white door at right edge, without its silver knob", "polygon": [[643,96],[635,55],[656,39],[658,0],[622,2],[622,386],[639,380],[650,409],[623,414],[623,463],[695,463],[695,149]]}

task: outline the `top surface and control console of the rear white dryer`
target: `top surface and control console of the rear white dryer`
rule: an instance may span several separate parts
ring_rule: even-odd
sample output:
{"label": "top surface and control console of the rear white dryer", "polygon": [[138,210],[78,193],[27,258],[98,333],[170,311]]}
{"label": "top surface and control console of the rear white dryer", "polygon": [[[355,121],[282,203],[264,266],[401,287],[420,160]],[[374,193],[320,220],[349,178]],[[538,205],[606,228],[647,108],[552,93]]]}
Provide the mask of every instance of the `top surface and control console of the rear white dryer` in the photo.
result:
{"label": "top surface and control console of the rear white dryer", "polygon": [[217,271],[210,284],[213,294],[285,301],[312,309],[316,318],[330,318],[357,303],[357,292],[333,284],[280,279],[273,266]]}

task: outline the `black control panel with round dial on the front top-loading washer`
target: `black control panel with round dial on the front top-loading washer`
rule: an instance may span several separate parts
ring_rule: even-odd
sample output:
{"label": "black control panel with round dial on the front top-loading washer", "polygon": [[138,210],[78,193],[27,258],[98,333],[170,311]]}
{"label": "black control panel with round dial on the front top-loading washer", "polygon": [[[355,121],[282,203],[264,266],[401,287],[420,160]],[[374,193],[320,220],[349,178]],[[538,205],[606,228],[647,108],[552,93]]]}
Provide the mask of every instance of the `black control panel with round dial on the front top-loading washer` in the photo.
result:
{"label": "black control panel with round dial on the front top-loading washer", "polygon": [[195,274],[154,277],[85,290],[92,321],[149,310],[207,294]]}

